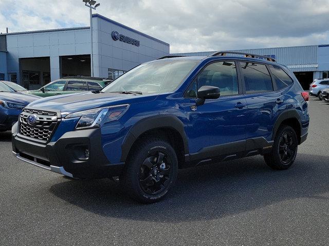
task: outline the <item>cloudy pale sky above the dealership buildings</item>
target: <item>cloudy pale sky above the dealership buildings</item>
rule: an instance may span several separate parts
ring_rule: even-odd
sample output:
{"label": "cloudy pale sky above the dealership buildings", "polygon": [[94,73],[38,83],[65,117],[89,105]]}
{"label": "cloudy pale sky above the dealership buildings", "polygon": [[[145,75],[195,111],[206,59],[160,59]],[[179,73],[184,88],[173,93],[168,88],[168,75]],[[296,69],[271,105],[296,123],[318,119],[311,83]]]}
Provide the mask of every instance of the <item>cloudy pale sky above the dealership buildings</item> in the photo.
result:
{"label": "cloudy pale sky above the dealership buildings", "polygon": [[[171,52],[329,43],[329,0],[100,0],[96,11],[159,38]],[[0,0],[0,32],[89,26],[82,0]],[[8,8],[6,7],[8,6]]]}

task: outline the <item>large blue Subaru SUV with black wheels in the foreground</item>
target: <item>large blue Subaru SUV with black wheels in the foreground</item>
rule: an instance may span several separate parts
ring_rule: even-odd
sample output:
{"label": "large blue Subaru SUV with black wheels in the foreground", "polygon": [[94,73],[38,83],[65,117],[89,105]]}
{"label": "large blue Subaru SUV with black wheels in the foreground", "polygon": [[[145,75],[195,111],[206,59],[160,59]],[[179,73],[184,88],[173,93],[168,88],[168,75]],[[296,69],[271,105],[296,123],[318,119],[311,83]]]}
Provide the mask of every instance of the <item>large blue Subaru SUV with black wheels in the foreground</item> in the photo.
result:
{"label": "large blue Subaru SUV with black wheels in the foreground", "polygon": [[119,178],[144,203],[180,168],[260,154],[287,169],[307,137],[308,92],[273,58],[244,55],[162,57],[102,90],[38,99],[12,128],[13,153],[73,178]]}

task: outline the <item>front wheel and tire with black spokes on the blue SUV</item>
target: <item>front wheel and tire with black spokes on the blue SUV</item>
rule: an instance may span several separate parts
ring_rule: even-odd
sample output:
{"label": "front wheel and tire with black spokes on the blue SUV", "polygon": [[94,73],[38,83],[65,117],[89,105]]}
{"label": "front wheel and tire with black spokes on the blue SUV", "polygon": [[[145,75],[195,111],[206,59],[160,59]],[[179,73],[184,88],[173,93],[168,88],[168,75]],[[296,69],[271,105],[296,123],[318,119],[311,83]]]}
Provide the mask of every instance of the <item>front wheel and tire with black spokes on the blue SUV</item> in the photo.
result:
{"label": "front wheel and tire with black spokes on the blue SUV", "polygon": [[159,138],[144,138],[134,145],[120,180],[131,198],[153,203],[172,188],[177,172],[178,161],[172,146]]}

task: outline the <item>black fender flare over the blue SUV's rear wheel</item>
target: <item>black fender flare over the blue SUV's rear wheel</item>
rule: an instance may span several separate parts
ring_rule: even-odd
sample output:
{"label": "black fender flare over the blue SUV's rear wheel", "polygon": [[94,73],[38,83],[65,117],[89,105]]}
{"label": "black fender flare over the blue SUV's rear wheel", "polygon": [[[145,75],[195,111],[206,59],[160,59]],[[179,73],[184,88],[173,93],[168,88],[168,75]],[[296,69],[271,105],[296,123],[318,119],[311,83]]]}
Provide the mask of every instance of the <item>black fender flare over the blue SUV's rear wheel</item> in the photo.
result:
{"label": "black fender flare over the blue SUV's rear wheel", "polygon": [[272,140],[275,139],[278,129],[282,125],[290,126],[295,130],[298,138],[298,144],[300,144],[302,124],[300,121],[300,115],[295,109],[287,110],[278,116],[273,127]]}

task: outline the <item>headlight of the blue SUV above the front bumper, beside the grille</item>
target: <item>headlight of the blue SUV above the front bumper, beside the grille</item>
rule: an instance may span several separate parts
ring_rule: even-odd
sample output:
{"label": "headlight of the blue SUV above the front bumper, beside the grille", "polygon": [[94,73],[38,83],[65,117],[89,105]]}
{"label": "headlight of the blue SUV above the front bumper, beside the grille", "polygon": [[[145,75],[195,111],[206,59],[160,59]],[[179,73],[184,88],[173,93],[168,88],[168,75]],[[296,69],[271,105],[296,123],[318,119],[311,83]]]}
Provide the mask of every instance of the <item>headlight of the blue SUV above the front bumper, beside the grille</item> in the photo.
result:
{"label": "headlight of the blue SUV above the front bumper, beside the grille", "polygon": [[90,109],[71,113],[64,118],[80,117],[76,129],[97,128],[106,122],[119,119],[129,108],[128,104]]}

